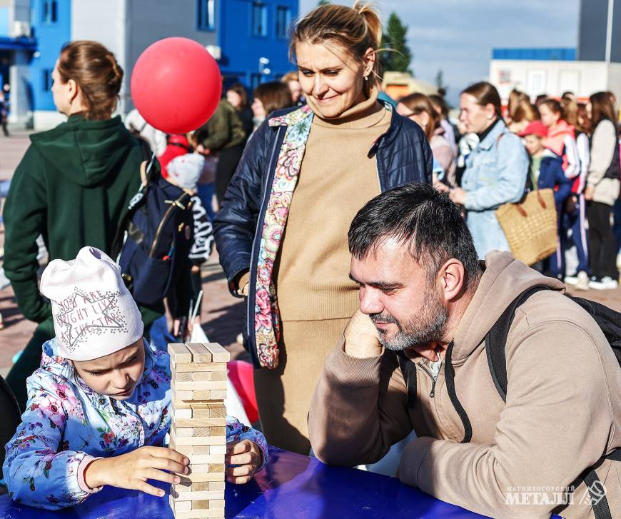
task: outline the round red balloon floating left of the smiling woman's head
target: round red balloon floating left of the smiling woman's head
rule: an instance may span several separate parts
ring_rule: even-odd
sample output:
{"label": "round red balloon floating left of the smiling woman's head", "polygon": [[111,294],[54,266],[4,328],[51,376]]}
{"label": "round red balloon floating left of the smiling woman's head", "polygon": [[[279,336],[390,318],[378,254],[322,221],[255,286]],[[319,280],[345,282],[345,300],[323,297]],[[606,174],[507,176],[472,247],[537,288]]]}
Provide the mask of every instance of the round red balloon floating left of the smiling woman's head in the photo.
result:
{"label": "round red balloon floating left of the smiling woman's head", "polygon": [[187,133],[205,124],[222,94],[220,69],[201,44],[165,38],[148,46],[131,74],[136,109],[165,133]]}

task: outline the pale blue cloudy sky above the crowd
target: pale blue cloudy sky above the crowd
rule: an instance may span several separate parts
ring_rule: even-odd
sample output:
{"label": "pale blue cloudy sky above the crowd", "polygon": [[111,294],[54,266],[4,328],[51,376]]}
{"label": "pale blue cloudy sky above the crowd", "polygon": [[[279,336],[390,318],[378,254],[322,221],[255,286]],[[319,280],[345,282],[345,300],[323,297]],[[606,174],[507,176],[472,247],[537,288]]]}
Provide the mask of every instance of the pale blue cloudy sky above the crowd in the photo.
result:
{"label": "pale blue cloudy sky above the crowd", "polygon": [[[341,2],[353,5],[353,0]],[[317,0],[301,0],[306,13]],[[408,26],[415,76],[432,83],[439,69],[455,103],[468,84],[486,79],[495,47],[575,47],[580,0],[383,0]]]}

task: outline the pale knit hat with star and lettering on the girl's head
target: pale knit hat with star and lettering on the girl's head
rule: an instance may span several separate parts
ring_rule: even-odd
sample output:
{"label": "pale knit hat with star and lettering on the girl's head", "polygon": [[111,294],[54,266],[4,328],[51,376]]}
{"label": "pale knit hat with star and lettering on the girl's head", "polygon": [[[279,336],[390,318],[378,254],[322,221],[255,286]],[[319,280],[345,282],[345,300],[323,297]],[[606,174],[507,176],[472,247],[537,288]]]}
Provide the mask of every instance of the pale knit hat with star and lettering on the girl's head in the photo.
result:
{"label": "pale knit hat with star and lettering on the girl's head", "polygon": [[52,304],[61,357],[92,361],[142,337],[141,315],[121,268],[98,248],[81,248],[71,261],[51,261],[40,290]]}

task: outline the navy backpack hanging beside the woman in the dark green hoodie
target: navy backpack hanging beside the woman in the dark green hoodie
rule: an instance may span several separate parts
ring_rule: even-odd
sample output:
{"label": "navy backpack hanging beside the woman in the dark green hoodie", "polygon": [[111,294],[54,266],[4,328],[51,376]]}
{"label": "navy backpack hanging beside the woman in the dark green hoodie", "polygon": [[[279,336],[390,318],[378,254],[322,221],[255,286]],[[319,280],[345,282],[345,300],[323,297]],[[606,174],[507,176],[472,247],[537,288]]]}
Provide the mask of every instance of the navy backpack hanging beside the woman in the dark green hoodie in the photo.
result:
{"label": "navy backpack hanging beside the woman in the dark green hoodie", "polygon": [[166,181],[153,167],[155,156],[141,164],[142,184],[113,241],[112,257],[136,303],[163,301],[188,267],[194,223],[191,195]]}

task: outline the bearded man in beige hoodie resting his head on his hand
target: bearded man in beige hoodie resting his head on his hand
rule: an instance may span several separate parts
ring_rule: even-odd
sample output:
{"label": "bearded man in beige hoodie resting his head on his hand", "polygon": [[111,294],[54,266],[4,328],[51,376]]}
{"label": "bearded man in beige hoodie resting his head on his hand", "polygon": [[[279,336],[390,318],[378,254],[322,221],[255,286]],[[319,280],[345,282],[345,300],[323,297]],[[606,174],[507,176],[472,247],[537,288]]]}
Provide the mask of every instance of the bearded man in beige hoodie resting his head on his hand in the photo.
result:
{"label": "bearded man in beige hoodie resting his head on his hand", "polygon": [[[458,208],[423,184],[373,198],[348,239],[360,310],[313,396],[315,455],[375,463],[414,430],[398,477],[436,498],[503,518],[618,513],[621,369],[565,286],[506,252],[479,262]],[[535,286],[501,395],[485,336]]]}

